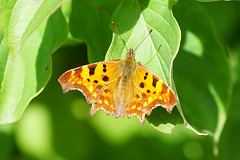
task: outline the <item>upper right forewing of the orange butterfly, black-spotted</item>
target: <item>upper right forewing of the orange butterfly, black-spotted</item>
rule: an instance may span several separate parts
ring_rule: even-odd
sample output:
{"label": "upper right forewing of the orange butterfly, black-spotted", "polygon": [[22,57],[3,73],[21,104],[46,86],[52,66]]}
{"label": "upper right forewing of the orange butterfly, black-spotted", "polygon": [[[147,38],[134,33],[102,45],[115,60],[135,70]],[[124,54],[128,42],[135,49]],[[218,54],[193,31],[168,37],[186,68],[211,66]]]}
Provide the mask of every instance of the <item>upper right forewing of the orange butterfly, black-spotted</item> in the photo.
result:
{"label": "upper right forewing of the orange butterfly, black-spotted", "polygon": [[160,105],[171,113],[174,105],[177,104],[177,98],[172,89],[139,63],[137,63],[137,72],[134,82],[142,96],[141,111],[150,115],[152,110]]}

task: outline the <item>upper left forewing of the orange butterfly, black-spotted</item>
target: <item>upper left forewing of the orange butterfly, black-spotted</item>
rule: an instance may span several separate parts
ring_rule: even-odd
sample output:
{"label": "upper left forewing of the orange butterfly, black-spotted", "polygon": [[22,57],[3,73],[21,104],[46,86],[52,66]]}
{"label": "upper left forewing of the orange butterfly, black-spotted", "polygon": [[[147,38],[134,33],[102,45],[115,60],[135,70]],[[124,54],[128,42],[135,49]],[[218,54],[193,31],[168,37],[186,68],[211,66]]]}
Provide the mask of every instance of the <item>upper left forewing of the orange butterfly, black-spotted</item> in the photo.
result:
{"label": "upper left forewing of the orange butterfly, black-spotted", "polygon": [[93,63],[71,69],[58,79],[63,93],[69,90],[79,90],[88,103],[96,103],[104,86],[119,76],[118,65],[121,60],[111,60]]}

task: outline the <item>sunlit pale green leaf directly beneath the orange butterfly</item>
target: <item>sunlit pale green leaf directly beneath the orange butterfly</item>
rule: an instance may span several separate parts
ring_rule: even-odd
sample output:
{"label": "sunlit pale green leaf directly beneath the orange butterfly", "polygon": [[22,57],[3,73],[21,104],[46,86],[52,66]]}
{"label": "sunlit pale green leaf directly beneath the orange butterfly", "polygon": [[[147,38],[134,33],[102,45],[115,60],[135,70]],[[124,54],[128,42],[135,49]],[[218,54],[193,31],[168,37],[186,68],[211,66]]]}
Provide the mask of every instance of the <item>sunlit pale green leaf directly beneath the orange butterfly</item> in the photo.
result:
{"label": "sunlit pale green leaf directly beneath the orange butterfly", "polygon": [[[180,29],[172,15],[172,5],[168,0],[126,0],[112,16],[128,48],[136,48],[153,29],[135,51],[135,58],[168,85],[171,85],[172,62],[180,45]],[[119,36],[114,33],[106,59],[123,59],[127,52]],[[177,123],[183,122],[176,109],[170,115],[160,107],[153,110],[147,120],[156,129],[166,133],[171,133]]]}

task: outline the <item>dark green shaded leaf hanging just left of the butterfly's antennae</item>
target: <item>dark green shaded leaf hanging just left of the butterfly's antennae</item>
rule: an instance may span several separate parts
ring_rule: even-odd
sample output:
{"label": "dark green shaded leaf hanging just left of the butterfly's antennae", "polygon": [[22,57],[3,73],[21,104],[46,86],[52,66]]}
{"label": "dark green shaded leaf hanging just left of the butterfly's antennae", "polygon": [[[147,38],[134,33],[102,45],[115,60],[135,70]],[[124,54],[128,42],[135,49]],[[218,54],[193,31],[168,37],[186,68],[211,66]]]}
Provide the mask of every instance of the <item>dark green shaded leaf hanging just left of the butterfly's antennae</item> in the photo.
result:
{"label": "dark green shaded leaf hanging just left of the butterfly's antennae", "polygon": [[90,62],[98,62],[104,59],[111,43],[112,32],[109,30],[108,24],[110,23],[112,10],[117,7],[119,1],[72,1],[72,14],[69,22],[70,32],[74,38],[87,44]]}

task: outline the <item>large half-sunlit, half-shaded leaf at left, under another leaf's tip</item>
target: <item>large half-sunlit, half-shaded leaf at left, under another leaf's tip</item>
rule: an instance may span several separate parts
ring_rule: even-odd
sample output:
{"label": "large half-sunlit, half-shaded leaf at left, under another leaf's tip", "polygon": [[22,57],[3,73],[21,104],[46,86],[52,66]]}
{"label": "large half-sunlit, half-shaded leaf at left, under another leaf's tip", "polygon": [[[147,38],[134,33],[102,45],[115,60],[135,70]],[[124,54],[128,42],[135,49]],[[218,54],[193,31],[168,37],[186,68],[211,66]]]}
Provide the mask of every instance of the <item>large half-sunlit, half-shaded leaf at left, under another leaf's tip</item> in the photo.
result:
{"label": "large half-sunlit, half-shaded leaf at left, under another leaf's tip", "polygon": [[51,76],[50,55],[67,33],[66,21],[58,10],[25,41],[13,62],[1,32],[0,124],[18,120],[29,101],[43,90]]}

